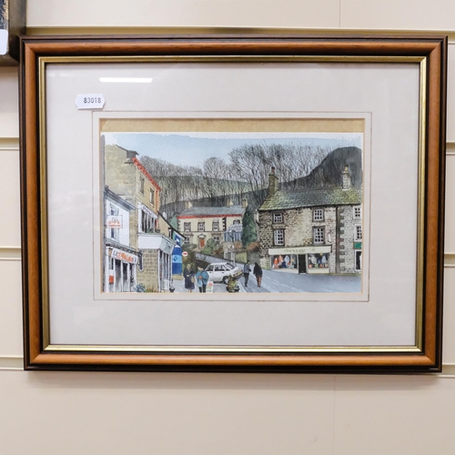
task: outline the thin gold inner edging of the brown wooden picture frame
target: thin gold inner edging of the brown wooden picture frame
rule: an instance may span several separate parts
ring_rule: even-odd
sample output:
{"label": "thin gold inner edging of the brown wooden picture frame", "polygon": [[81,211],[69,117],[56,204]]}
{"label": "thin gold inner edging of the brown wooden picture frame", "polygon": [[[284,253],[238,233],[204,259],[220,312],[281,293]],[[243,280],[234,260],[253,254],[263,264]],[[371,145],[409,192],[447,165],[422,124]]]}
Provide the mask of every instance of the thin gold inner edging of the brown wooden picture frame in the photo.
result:
{"label": "thin gold inner edging of the brown wooden picture frame", "polygon": [[[202,62],[349,62],[349,63],[419,63],[420,64],[420,146],[419,146],[419,156],[420,156],[420,174],[419,174],[419,200],[420,202],[424,201],[423,194],[423,178],[425,176],[425,156],[424,156],[424,144],[425,144],[425,106],[426,106],[426,67],[427,67],[427,58],[422,56],[47,56],[39,57],[39,159],[40,159],[40,198],[41,198],[41,227],[42,227],[42,238],[41,238],[41,247],[42,247],[42,286],[43,286],[43,301],[42,301],[42,311],[43,311],[43,344],[45,349],[50,349],[50,334],[49,334],[49,292],[48,292],[48,251],[47,251],[47,201],[46,201],[46,140],[45,140],[45,66],[52,63],[93,63],[93,62],[102,62],[102,63],[115,63],[115,62],[182,62],[182,63],[202,63]],[[423,243],[422,243],[422,233],[420,232],[423,227],[423,209],[420,204],[420,212],[418,219],[418,264],[417,264],[417,276],[422,276],[423,271]],[[349,348],[354,350],[349,350],[352,352],[362,352],[362,351],[374,351],[374,352],[415,352],[420,351],[421,348],[421,337],[422,337],[422,288],[419,284],[417,285],[417,305],[416,305],[416,344],[417,347],[413,348],[388,348],[390,350],[385,350],[385,348]],[[53,347],[52,349],[59,348]],[[68,347],[63,348],[64,350]],[[87,350],[87,347],[71,347],[72,350]],[[92,349],[92,348],[90,348]],[[93,348],[94,350],[99,349],[99,347]],[[106,347],[106,349],[110,349]],[[129,351],[131,348],[120,348],[121,350]],[[188,348],[178,348],[182,351],[187,351]],[[207,348],[201,349],[201,351],[206,350]],[[221,349],[221,348],[213,348]],[[279,349],[279,351],[287,351],[286,349],[276,348],[273,351]],[[302,348],[295,348],[300,352],[329,352],[329,351],[339,351],[346,349],[339,348],[311,348],[302,350]],[[321,349],[321,350],[319,350]],[[379,349],[379,350],[376,350]],[[404,350],[403,350],[404,349]],[[410,350],[408,350],[410,349]],[[113,349],[119,350],[119,349]],[[147,348],[145,350],[150,350]],[[162,348],[157,348],[157,351],[161,351]],[[169,350],[176,350],[172,348]],[[225,349],[221,349],[225,351]],[[240,351],[245,351],[245,349],[240,349]],[[248,352],[267,352],[266,350],[258,350],[255,348]],[[296,350],[288,350],[296,351]],[[235,350],[232,350],[235,352]]]}

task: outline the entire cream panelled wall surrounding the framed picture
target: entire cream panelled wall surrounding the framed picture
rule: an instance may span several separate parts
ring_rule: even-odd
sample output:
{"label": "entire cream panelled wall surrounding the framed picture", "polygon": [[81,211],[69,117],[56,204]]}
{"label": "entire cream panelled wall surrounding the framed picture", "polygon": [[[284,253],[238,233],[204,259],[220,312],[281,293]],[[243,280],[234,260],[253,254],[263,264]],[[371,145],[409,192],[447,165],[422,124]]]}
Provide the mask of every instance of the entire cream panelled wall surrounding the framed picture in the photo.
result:
{"label": "entire cream panelled wall surrounding the framed picture", "polygon": [[[451,0],[28,0],[35,33],[118,26],[441,30]],[[49,27],[55,27],[51,29]],[[118,31],[118,30],[117,30]],[[137,32],[141,32],[139,29]],[[17,69],[0,68],[0,452],[455,453],[455,40],[450,45],[444,373],[437,376],[24,372]]]}

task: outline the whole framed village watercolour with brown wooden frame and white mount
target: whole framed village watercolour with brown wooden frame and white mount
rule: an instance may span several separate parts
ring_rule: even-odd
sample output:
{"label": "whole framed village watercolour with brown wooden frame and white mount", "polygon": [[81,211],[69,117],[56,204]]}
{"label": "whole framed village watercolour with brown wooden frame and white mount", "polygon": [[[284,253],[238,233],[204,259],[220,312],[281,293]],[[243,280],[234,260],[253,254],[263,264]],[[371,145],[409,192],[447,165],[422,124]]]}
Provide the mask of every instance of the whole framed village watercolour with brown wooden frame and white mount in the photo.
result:
{"label": "whole framed village watercolour with brown wooden frame and white mount", "polygon": [[25,369],[440,371],[445,37],[21,45]]}

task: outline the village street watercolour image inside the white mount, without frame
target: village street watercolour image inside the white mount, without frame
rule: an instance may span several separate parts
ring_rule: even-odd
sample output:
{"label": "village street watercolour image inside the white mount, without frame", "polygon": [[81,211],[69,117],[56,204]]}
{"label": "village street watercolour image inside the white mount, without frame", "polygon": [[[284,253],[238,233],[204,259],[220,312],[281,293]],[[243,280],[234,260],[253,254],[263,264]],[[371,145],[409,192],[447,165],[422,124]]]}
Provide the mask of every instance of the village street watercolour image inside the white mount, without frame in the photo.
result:
{"label": "village street watercolour image inside the white mount, without frame", "polygon": [[104,292],[361,292],[363,134],[104,133],[101,153]]}

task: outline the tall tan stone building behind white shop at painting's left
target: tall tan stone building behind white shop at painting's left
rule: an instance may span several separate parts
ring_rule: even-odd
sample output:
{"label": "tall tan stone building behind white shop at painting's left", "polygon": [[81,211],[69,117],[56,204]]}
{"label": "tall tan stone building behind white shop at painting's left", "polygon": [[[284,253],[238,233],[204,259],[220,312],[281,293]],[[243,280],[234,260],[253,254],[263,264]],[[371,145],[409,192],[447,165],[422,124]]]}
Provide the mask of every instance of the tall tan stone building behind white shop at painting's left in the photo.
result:
{"label": "tall tan stone building behind white shop at painting's left", "polygon": [[[159,213],[161,188],[137,159],[137,152],[115,145],[105,147],[105,183],[135,207],[129,223],[131,247],[138,254],[137,284],[149,291],[167,291],[176,242]],[[161,224],[165,224],[162,230]]]}

